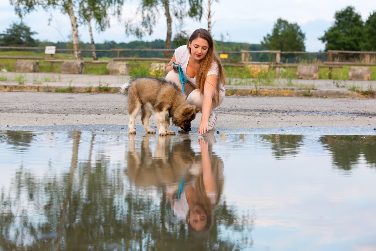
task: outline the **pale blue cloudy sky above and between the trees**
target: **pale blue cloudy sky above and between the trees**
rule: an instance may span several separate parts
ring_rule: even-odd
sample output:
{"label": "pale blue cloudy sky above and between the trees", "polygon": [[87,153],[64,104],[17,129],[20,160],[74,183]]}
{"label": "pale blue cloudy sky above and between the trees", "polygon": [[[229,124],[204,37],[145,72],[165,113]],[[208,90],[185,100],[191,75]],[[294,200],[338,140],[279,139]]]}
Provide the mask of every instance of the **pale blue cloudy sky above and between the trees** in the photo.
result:
{"label": "pale blue cloudy sky above and between the trees", "polygon": [[[173,1],[170,1],[173,3]],[[207,5],[207,0],[203,0]],[[97,32],[94,29],[94,41],[102,43],[104,41],[130,42],[138,40],[134,36],[125,34],[124,21],[137,19],[137,1],[125,0],[123,12],[120,20],[111,19],[111,26],[104,32]],[[212,35],[215,40],[231,42],[246,42],[250,44],[260,44],[264,36],[270,34],[274,23],[278,18],[287,20],[289,23],[297,23],[306,36],[306,51],[324,50],[325,45],[318,40],[323,36],[334,23],[334,13],[346,6],[352,5],[356,12],[362,16],[362,20],[367,20],[371,12],[376,11],[374,0],[219,0],[212,4]],[[204,6],[205,9],[205,6]],[[205,11],[206,13],[206,11]],[[3,33],[13,23],[19,23],[20,18],[15,14],[14,7],[9,4],[9,0],[0,0],[0,33]],[[52,20],[49,24],[49,16]],[[34,39],[40,41],[69,41],[71,34],[70,19],[67,14],[60,11],[46,12],[43,9],[26,15],[23,22],[31,28]],[[95,24],[92,23],[92,27]],[[207,29],[208,22],[205,16],[201,21],[186,19],[183,24],[189,34],[198,28]],[[173,36],[176,28],[173,26]],[[164,12],[160,11],[160,18],[154,32],[150,36],[144,36],[143,41],[153,41],[155,39],[166,38],[167,26]],[[79,27],[80,40],[89,42],[89,32],[87,26]]]}

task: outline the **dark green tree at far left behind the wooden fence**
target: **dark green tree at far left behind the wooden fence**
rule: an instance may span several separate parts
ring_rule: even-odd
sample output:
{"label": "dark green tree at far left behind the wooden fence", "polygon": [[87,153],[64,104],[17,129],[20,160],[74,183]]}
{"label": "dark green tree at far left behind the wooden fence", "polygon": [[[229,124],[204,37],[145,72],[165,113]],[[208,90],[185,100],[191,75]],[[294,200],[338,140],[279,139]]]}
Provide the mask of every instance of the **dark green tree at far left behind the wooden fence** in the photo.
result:
{"label": "dark green tree at far left behind the wooden fence", "polygon": [[37,41],[32,38],[35,34],[38,33],[30,31],[30,27],[22,21],[19,24],[12,23],[4,33],[0,33],[0,45],[35,47]]}

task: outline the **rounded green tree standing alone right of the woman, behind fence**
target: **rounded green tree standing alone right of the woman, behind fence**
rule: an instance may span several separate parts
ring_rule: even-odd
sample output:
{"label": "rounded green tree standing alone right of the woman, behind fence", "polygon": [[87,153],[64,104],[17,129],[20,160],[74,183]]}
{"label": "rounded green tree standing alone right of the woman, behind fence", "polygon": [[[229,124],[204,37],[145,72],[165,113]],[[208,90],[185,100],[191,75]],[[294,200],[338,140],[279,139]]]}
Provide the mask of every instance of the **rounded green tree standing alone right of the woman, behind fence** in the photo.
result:
{"label": "rounded green tree standing alone right of the woman, behind fence", "polygon": [[278,18],[271,34],[264,36],[261,45],[268,50],[305,51],[305,39],[299,25]]}

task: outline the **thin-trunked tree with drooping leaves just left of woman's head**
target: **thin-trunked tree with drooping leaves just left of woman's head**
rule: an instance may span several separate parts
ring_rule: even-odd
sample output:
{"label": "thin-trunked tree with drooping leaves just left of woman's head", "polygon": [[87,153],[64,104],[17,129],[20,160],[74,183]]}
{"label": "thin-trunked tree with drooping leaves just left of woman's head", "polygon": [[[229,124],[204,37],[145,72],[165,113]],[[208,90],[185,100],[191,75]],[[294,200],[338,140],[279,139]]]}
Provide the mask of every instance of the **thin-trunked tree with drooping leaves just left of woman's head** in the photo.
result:
{"label": "thin-trunked tree with drooping leaves just left of woman's head", "polygon": [[[173,18],[176,19],[176,23],[179,26],[179,24],[183,23],[186,16],[201,20],[203,12],[202,0],[175,0],[171,2],[173,3],[172,5],[170,5],[169,0],[140,0],[137,15],[141,16],[141,23],[134,23],[132,19],[128,20],[126,22],[126,34],[133,34],[138,38],[142,38],[146,34],[151,35],[159,17],[159,10],[163,9],[167,23],[167,35],[164,48],[170,49]],[[187,3],[188,8],[186,8]],[[173,14],[172,17],[170,9]],[[182,36],[182,34],[178,34],[178,36]],[[179,40],[179,38],[177,38],[177,40]],[[170,52],[165,51],[164,56],[166,58],[171,57]]]}

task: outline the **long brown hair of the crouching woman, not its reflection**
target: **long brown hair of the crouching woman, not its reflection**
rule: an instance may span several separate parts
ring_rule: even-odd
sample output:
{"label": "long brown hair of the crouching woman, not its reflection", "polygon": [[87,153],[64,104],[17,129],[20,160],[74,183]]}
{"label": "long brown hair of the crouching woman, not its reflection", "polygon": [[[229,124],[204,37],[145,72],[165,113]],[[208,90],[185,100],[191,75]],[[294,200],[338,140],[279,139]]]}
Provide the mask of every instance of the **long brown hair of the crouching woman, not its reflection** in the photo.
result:
{"label": "long brown hair of the crouching woman, not its reflection", "polygon": [[209,33],[208,30],[205,30],[205,29],[197,29],[190,36],[187,42],[188,52],[190,54],[191,54],[191,47],[189,46],[189,44],[192,43],[192,41],[196,38],[205,39],[209,44],[208,52],[206,53],[206,56],[203,59],[201,59],[199,69],[196,72],[197,89],[200,90],[200,93],[202,95],[204,94],[204,85],[205,85],[206,75],[208,74],[212,66],[212,62],[214,61],[215,63],[217,63],[218,75],[217,75],[217,87],[215,88],[217,93],[213,97],[213,105],[215,102],[219,106],[218,101],[219,101],[220,85],[226,84],[226,74],[222,66],[222,62],[220,58],[218,57],[217,53],[215,52],[214,41],[213,41],[211,34]]}

